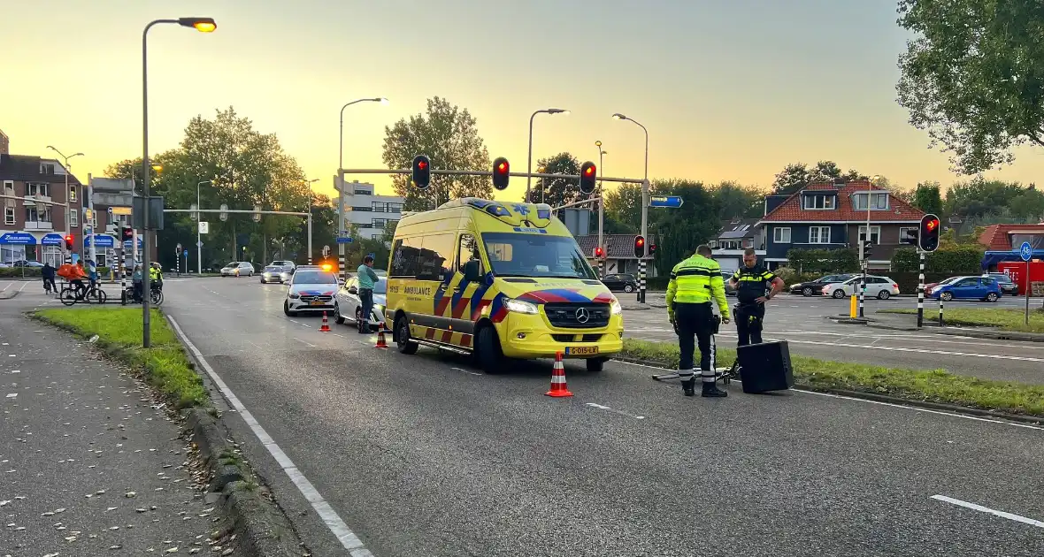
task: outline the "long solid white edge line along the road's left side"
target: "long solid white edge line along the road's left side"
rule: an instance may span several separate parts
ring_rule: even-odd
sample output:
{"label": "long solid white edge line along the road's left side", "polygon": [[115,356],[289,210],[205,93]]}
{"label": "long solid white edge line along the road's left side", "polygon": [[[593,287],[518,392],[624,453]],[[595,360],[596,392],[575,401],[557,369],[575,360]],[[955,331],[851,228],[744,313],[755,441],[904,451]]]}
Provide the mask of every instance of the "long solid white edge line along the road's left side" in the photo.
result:
{"label": "long solid white edge line along the road's left side", "polygon": [[232,405],[233,408],[236,409],[236,412],[242,416],[243,421],[250,426],[251,431],[253,431],[254,435],[257,436],[259,441],[261,441],[261,444],[268,450],[268,453],[283,468],[286,476],[290,478],[293,485],[298,486],[298,490],[301,491],[301,494],[304,495],[304,498],[312,506],[315,513],[323,518],[323,523],[326,524],[327,528],[330,529],[330,532],[337,537],[340,544],[349,551],[349,554],[352,557],[373,557],[373,554],[370,553],[370,551],[362,544],[362,540],[360,540],[359,537],[352,532],[348,525],[345,524],[345,520],[337,514],[337,511],[333,510],[333,507],[331,507],[330,504],[323,499],[323,495],[319,494],[317,489],[315,489],[315,486],[313,486],[312,483],[308,481],[308,478],[305,478],[305,475],[298,469],[298,465],[290,460],[290,457],[286,456],[286,453],[284,453],[278,444],[276,444],[276,441],[268,435],[267,432],[265,432],[264,428],[261,427],[261,423],[254,418],[254,414],[252,414],[250,410],[246,410],[243,403],[241,403],[235,393],[232,392],[232,389],[224,384],[224,381],[220,378],[220,376],[214,371],[214,368],[210,366],[210,363],[208,363],[203,357],[199,349],[195,347],[195,344],[192,344],[192,341],[189,340],[188,336],[185,335],[185,332],[182,331],[177,321],[169,315],[167,316],[167,319],[170,321],[170,324],[173,325],[177,336],[181,337],[183,342],[185,342],[185,345],[188,346],[196,359],[199,360],[199,364],[203,365],[207,374],[210,376],[211,381],[213,381],[214,384],[217,385],[217,388],[221,390],[221,394],[224,398]]}

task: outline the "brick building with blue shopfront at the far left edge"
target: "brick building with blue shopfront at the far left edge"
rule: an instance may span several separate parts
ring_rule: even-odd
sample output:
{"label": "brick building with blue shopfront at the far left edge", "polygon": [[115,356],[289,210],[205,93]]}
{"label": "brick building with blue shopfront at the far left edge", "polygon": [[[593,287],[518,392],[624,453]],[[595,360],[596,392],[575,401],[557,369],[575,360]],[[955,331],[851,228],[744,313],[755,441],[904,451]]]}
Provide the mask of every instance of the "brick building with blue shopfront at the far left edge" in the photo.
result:
{"label": "brick building with blue shopfront at the far left edge", "polygon": [[[66,191],[67,170],[53,159],[10,154],[9,141],[0,131],[0,262],[39,261],[61,264],[66,234],[80,238],[82,185],[71,173]],[[66,228],[66,210],[70,227]]]}

